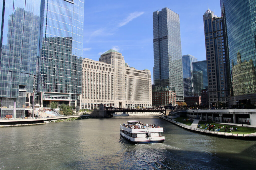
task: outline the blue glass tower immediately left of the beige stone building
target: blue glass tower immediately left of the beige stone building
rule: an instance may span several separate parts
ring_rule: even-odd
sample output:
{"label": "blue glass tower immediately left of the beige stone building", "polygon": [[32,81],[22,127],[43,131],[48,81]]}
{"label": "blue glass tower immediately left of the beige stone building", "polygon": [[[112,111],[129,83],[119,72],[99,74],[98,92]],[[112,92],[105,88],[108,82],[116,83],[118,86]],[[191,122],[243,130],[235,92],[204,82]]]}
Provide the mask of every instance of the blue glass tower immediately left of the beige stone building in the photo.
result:
{"label": "blue glass tower immediately left of the beige stone building", "polygon": [[38,94],[41,107],[52,101],[81,108],[84,0],[41,2]]}

